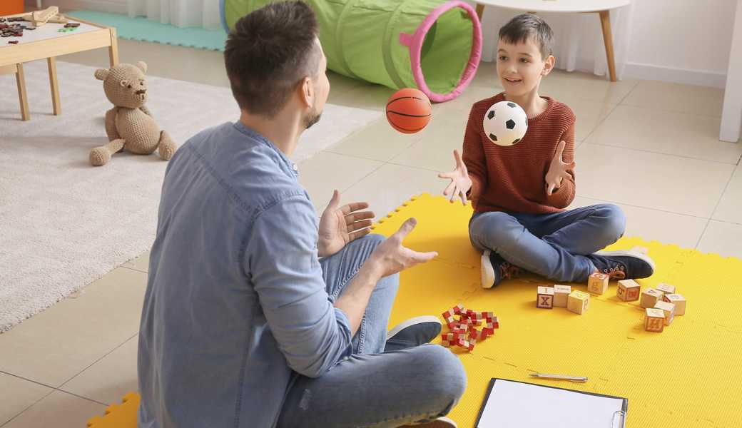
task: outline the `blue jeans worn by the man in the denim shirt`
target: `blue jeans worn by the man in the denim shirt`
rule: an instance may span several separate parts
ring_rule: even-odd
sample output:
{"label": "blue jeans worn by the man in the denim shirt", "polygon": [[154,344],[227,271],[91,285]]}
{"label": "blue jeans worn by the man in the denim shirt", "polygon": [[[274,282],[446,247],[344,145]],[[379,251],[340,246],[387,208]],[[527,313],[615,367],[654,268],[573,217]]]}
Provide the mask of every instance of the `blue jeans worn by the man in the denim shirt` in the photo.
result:
{"label": "blue jeans worn by the man in the denim shirt", "polygon": [[[321,260],[333,301],[384,240],[370,234]],[[447,414],[466,387],[461,361],[439,345],[384,353],[399,275],[381,279],[353,337],[353,355],[319,378],[295,375],[278,427],[398,427]],[[424,315],[424,314],[421,314]]]}

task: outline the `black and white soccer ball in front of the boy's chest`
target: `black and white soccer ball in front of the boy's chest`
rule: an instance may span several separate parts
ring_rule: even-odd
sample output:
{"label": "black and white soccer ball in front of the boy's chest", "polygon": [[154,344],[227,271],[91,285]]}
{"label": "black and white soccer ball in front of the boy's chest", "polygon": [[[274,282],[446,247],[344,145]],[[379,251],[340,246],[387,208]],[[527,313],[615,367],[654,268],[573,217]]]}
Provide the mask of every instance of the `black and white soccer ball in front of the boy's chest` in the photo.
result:
{"label": "black and white soccer ball in front of the boy's chest", "polygon": [[496,145],[516,145],[528,130],[528,116],[512,101],[496,102],[487,110],[482,126]]}

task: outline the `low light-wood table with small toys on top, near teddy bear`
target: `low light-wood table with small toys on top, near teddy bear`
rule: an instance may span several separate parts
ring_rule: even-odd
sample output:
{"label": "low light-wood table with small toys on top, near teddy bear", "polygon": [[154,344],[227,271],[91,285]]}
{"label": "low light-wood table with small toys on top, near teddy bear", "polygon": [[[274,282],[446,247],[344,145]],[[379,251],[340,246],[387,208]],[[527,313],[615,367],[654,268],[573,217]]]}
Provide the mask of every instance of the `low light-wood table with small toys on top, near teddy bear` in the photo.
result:
{"label": "low light-wood table with small toys on top, near teddy bear", "polygon": [[[10,18],[10,15],[3,18]],[[23,75],[23,63],[46,59],[49,68],[49,83],[54,114],[62,113],[62,104],[59,101],[59,84],[56,80],[56,57],[82,50],[108,47],[108,58],[111,67],[119,63],[119,47],[116,42],[116,28],[105,27],[82,19],[69,19],[70,22],[79,22],[80,27],[69,33],[59,33],[64,24],[49,22],[37,27],[36,30],[24,30],[22,37],[6,37],[0,39],[0,74],[14,73],[18,86],[18,100],[21,105],[21,118],[30,119],[28,99],[26,96],[26,82]],[[30,25],[30,23],[26,23]],[[18,45],[10,45],[10,40],[17,40]]]}

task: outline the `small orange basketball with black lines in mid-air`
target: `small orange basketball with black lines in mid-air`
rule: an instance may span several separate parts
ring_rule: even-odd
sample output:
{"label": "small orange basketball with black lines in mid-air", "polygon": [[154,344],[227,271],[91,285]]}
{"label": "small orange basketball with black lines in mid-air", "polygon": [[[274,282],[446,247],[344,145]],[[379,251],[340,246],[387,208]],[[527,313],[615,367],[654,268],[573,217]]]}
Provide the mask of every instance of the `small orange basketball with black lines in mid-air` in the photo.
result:
{"label": "small orange basketball with black lines in mid-air", "polygon": [[430,100],[421,90],[404,88],[387,102],[387,120],[403,134],[415,134],[430,122]]}

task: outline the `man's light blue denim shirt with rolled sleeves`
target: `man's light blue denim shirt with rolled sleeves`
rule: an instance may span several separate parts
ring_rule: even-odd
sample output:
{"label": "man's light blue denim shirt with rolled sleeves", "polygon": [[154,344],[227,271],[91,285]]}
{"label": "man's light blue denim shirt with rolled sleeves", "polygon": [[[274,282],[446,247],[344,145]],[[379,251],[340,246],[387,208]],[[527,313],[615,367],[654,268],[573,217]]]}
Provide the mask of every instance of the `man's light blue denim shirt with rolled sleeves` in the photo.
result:
{"label": "man's light blue denim shirt with rolled sleeves", "polygon": [[175,153],[139,331],[139,427],[272,427],[292,373],[350,355],[317,228],[295,165],[241,122]]}

